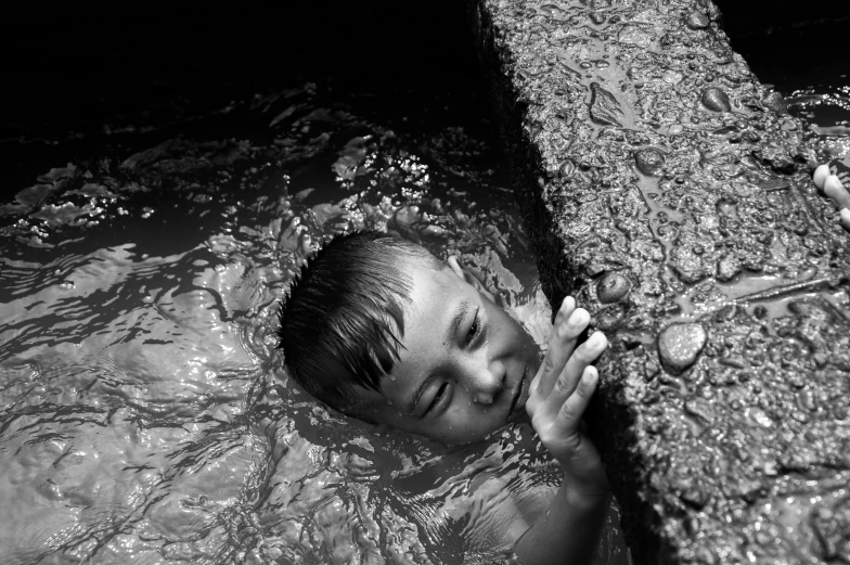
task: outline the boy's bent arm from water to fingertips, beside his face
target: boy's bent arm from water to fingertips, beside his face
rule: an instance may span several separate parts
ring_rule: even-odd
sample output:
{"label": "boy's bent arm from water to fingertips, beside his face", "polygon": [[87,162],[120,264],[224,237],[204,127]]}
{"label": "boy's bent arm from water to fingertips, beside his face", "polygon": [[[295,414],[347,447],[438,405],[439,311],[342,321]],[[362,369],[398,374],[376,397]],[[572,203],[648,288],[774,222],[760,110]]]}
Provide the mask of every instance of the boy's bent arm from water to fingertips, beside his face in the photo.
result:
{"label": "boy's bent arm from water to fingertips, beside his face", "polygon": [[589,323],[587,310],[576,308],[572,297],[565,298],[549,351],[530,385],[526,409],[531,425],[565,476],[545,516],[516,542],[514,551],[523,565],[590,563],[598,543],[608,481],[598,452],[579,426],[598,381],[590,363],[608,343],[597,332],[576,347]]}

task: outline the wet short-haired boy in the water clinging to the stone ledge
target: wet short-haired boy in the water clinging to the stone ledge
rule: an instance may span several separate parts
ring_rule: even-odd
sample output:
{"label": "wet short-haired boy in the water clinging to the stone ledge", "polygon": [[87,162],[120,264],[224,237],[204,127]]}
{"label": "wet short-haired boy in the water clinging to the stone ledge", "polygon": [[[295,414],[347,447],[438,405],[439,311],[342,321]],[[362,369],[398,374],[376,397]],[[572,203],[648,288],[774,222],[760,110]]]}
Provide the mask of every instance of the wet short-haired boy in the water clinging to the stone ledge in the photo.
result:
{"label": "wet short-haired boy in the water clinging to the stone ledge", "polygon": [[[850,195],[820,167],[819,189],[850,230]],[[331,407],[446,445],[485,437],[526,413],[564,481],[549,512],[515,540],[524,565],[589,563],[608,504],[598,454],[580,432],[606,348],[571,297],[558,309],[549,350],[455,257],[379,232],[336,236],[302,268],[281,308],[289,374]]]}

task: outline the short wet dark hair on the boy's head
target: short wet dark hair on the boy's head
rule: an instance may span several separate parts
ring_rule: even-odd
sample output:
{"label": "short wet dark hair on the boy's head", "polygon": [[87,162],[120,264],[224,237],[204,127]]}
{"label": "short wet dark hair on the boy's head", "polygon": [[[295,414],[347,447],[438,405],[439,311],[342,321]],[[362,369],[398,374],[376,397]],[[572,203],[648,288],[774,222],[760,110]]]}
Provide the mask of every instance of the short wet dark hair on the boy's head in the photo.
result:
{"label": "short wet dark hair on the boy's head", "polygon": [[379,391],[399,359],[410,261],[446,267],[425,248],[376,231],[336,235],[301,267],[279,310],[279,347],[288,374],[349,415],[355,385]]}

